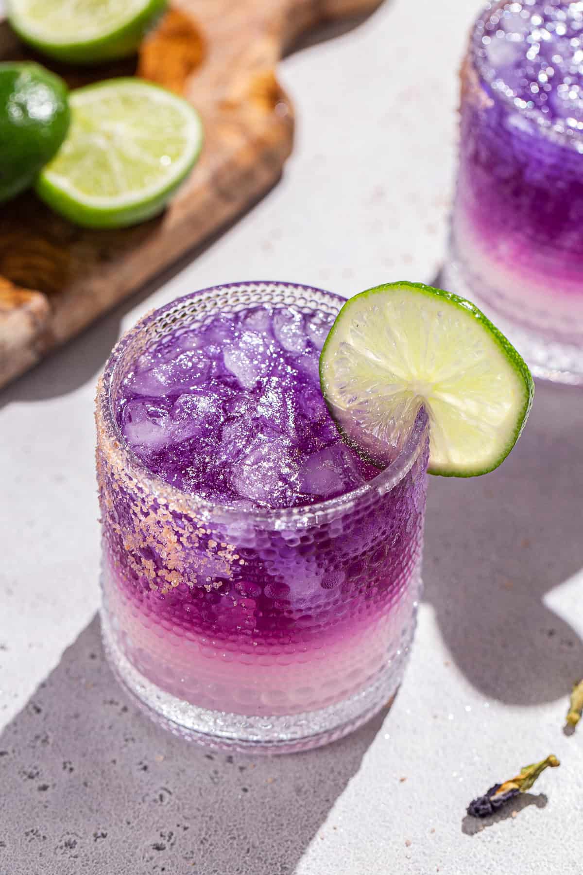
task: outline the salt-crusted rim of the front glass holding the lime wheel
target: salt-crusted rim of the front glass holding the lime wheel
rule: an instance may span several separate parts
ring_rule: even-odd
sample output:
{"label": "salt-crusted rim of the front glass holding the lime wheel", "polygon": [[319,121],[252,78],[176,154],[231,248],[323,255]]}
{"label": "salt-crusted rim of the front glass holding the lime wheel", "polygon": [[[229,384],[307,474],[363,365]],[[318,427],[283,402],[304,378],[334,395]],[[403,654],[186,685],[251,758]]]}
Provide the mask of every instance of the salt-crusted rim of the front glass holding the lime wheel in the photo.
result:
{"label": "salt-crusted rim of the front glass holding the lime wheel", "polygon": [[382,495],[391,492],[406,477],[406,474],[411,470],[414,462],[427,443],[429,419],[425,408],[422,406],[415,423],[413,423],[413,428],[407,437],[406,443],[391,465],[379,471],[377,476],[368,480],[363,486],[358,486],[357,489],[337,495],[335,498],[324,499],[316,501],[314,504],[297,507],[256,507],[251,510],[242,510],[240,507],[233,507],[229,504],[221,504],[220,502],[205,499],[197,493],[185,492],[177,486],[171,486],[166,480],[149,471],[149,468],[144,465],[142,460],[135,455],[135,452],[126,443],[121,428],[116,421],[112,404],[112,389],[115,369],[123,361],[124,353],[126,353],[132,340],[138,337],[154,319],[160,318],[164,313],[171,311],[179,302],[205,294],[216,294],[224,290],[241,289],[246,286],[253,287],[256,285],[267,287],[284,286],[288,290],[317,292],[326,297],[333,298],[335,302],[344,302],[346,300],[346,298],[335,292],[318,289],[316,286],[302,283],[288,283],[279,280],[247,280],[239,283],[222,283],[220,285],[208,286],[205,289],[176,297],[168,304],[163,304],[162,307],[156,310],[147,311],[117,341],[98,382],[96,397],[98,446],[102,445],[102,438],[103,444],[105,444],[106,456],[114,456],[117,464],[123,471],[127,472],[129,477],[142,487],[146,487],[152,497],[161,500],[171,507],[176,507],[186,514],[202,514],[209,519],[212,516],[220,515],[222,519],[235,520],[239,519],[243,514],[246,519],[256,523],[272,523],[275,528],[286,528],[285,523],[316,521],[322,514],[336,514],[338,511],[350,508],[366,495],[374,493]]}

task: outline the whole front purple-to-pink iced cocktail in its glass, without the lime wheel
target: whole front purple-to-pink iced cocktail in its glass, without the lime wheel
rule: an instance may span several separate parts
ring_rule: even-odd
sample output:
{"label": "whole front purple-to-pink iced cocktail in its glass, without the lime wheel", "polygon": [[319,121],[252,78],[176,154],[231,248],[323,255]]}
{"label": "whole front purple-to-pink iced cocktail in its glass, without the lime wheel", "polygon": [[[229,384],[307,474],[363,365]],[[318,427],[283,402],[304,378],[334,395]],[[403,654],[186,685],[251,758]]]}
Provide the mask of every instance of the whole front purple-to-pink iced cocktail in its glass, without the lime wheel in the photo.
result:
{"label": "whole front purple-to-pink iced cocktail in its glass, without the lime wheel", "polygon": [[105,640],[184,737],[315,746],[399,685],[427,417],[383,472],[343,443],[318,377],[342,304],[286,283],[205,290],[143,318],[102,378]]}

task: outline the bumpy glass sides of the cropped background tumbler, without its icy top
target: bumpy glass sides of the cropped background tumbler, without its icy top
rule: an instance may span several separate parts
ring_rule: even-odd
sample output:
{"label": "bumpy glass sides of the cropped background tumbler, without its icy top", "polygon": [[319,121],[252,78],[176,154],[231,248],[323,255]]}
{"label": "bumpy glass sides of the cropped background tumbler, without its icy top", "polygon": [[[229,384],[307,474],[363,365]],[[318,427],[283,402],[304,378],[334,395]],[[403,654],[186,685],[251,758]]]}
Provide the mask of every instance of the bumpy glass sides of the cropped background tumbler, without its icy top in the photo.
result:
{"label": "bumpy glass sides of the cropped background tumbler, without its icy top", "polygon": [[[513,6],[489,4],[462,66],[460,164],[444,285],[475,301],[535,375],[579,383],[583,130],[513,96],[493,66],[495,49],[523,45],[510,40],[516,19],[508,17],[521,14]],[[509,31],[503,38],[488,29],[493,14],[496,27]]]}

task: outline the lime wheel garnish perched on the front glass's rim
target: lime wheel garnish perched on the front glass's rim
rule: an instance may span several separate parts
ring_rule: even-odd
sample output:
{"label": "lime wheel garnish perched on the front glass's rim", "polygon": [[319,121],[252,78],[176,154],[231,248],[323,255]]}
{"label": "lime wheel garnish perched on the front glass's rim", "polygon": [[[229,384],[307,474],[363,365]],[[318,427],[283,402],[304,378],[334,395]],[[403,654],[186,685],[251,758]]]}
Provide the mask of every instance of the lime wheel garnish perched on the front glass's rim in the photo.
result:
{"label": "lime wheel garnish perched on the front glass's rim", "polygon": [[462,297],[388,283],[344,304],[320,356],[323,396],[344,437],[385,467],[424,406],[429,471],[492,471],[516,444],[534,383],[516,349]]}

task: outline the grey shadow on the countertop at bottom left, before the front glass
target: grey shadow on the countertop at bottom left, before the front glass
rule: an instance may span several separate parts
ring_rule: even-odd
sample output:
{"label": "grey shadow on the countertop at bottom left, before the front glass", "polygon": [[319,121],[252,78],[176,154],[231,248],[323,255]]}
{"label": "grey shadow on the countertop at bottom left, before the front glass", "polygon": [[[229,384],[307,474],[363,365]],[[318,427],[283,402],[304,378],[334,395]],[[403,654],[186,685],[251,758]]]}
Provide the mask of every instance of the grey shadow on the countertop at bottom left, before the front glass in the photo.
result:
{"label": "grey shadow on the countertop at bottom left, before the front glass", "polygon": [[385,714],[308,753],[209,752],[129,703],[94,618],[0,735],[0,872],[292,875]]}

